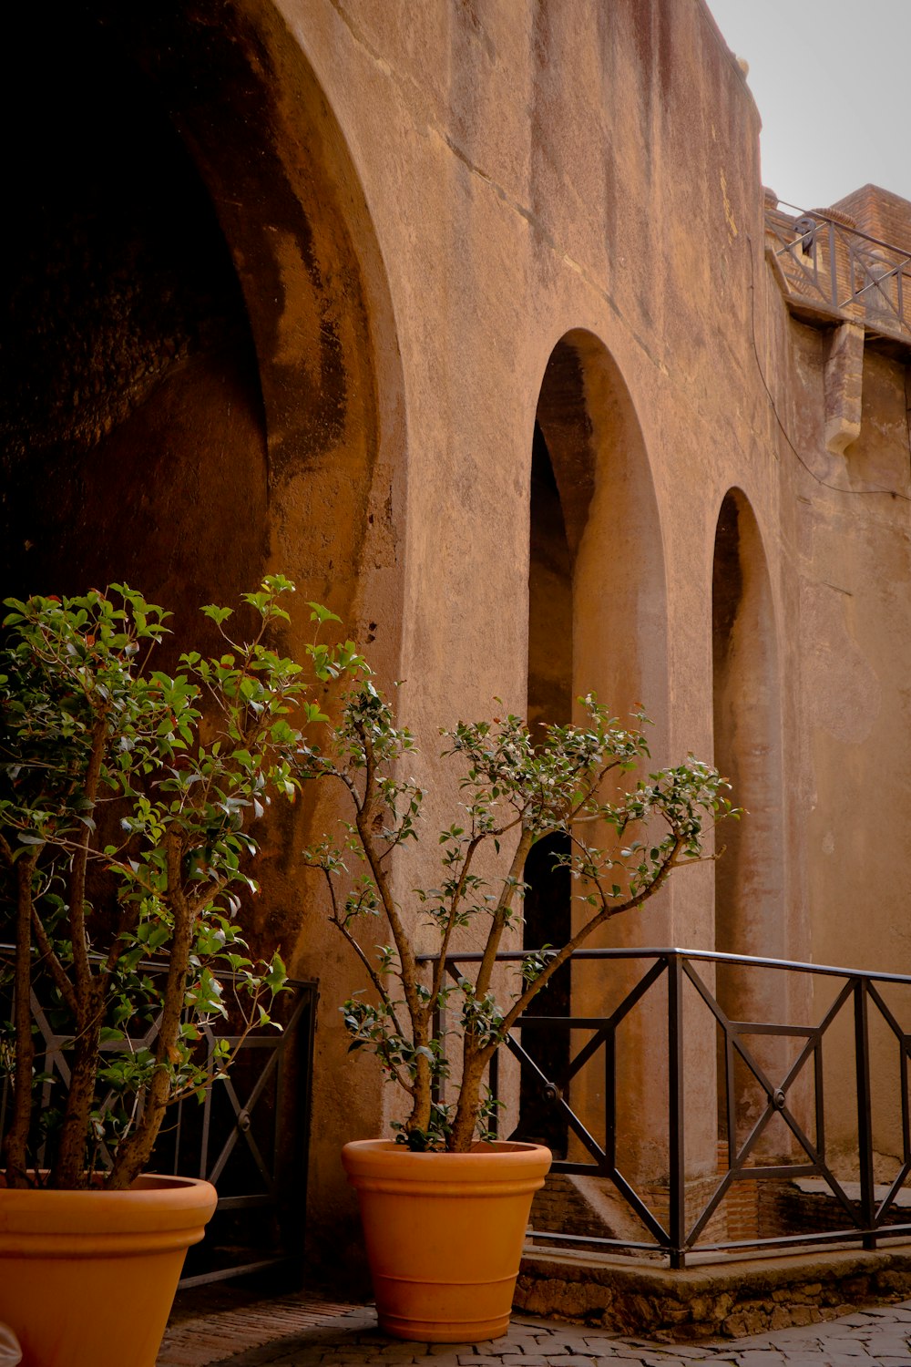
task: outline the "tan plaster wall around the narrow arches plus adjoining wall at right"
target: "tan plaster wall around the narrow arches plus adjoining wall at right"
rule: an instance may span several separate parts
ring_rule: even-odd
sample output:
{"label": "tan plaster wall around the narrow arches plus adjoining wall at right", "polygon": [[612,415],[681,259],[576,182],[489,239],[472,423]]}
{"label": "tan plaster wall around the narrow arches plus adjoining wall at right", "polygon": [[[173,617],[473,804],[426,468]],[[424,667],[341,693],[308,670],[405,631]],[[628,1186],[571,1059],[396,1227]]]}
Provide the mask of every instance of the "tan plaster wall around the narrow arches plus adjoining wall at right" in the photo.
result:
{"label": "tan plaster wall around the narrow arches plus adjoining wall at right", "polygon": [[[594,491],[574,547],[574,692],[651,708],[657,761],[712,752],[714,534],[740,491],[768,574],[781,755],[774,895],[750,947],[850,958],[860,887],[870,905],[889,883],[869,854],[881,819],[858,815],[880,772],[891,848],[906,839],[906,370],[867,354],[860,436],[835,470],[889,492],[825,489],[829,336],[788,316],[765,265],[758,115],[707,11],[284,0],[281,12],[339,120],[388,276],[410,723],[434,734],[453,699],[463,715],[494,696],[524,705],[531,435],[555,347],[585,334],[609,364],[583,366]],[[896,212],[889,201],[892,227]],[[856,619],[826,588],[829,554],[856,566]],[[847,879],[809,849],[839,812],[856,856]],[[903,945],[899,887],[871,917],[870,961]],[[620,934],[714,945],[712,869]],[[803,1020],[806,987],[779,1005]]]}

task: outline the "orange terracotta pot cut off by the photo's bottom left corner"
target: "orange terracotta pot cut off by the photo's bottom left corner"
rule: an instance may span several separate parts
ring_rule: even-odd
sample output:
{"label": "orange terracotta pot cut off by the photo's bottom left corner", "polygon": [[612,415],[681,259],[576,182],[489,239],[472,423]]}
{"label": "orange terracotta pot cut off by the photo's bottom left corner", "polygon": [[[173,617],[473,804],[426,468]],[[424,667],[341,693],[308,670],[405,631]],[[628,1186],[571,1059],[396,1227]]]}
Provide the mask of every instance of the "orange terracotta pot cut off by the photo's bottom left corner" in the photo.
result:
{"label": "orange terracotta pot cut off by the photo's bottom left corner", "polygon": [[216,1200],[191,1177],[139,1177],[126,1192],[1,1188],[0,1322],[22,1367],[154,1367]]}

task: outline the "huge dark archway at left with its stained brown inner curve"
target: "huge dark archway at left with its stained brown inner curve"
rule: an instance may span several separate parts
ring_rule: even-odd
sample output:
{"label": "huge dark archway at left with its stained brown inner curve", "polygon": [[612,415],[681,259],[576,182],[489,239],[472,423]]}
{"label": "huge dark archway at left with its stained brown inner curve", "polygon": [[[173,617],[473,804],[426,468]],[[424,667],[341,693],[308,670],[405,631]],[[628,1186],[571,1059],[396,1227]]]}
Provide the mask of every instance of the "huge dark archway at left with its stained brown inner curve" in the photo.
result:
{"label": "huge dark archway at left with its stained brown inner curve", "polygon": [[[266,0],[20,5],[4,37],[4,589],[126,578],[173,610],[178,645],[217,648],[198,606],[281,570],[288,651],[320,599],[373,630],[395,677],[399,354],[356,171],[299,45]],[[376,1132],[382,1088],[332,1083],[351,965],[298,853],[322,813],[270,822],[244,917],[257,951],[280,943],[321,979],[311,1191],[335,1226],[337,1146]]]}

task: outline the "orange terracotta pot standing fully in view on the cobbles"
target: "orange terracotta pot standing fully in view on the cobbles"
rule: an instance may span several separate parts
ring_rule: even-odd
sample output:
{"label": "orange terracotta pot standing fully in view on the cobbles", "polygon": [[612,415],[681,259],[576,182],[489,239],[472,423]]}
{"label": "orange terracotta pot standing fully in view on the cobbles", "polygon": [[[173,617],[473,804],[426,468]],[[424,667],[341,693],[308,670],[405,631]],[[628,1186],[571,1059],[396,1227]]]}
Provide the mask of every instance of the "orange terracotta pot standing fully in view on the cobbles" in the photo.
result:
{"label": "orange terracotta pot standing fully in view on the cobbles", "polygon": [[500,1141],[412,1154],[369,1139],[346,1144],[341,1162],[361,1203],[380,1327],[434,1344],[505,1334],[550,1150]]}

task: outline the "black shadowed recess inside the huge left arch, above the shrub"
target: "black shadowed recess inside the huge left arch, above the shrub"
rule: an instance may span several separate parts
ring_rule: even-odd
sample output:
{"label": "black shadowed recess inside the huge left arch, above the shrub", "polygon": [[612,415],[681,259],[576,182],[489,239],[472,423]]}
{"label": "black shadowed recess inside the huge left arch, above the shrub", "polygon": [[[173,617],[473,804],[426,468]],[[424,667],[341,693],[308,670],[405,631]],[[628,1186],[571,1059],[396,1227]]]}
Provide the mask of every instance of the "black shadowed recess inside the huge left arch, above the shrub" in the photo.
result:
{"label": "black shadowed recess inside the huge left arch, above the shrub", "polygon": [[96,26],[29,7],[11,25],[4,586],[234,595],[265,558],[265,425],[213,205]]}

